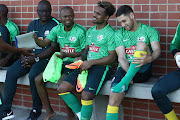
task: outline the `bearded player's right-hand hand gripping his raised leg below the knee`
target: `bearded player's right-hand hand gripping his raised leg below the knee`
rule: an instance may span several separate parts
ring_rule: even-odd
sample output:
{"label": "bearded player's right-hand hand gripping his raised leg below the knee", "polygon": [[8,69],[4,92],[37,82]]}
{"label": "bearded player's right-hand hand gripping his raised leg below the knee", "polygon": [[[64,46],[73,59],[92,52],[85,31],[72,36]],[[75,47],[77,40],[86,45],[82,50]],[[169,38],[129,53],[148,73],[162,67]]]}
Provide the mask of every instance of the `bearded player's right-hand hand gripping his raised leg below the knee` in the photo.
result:
{"label": "bearded player's right-hand hand gripping his raised leg below the knee", "polygon": [[135,68],[141,67],[141,66],[143,66],[143,65],[148,63],[148,61],[147,61],[148,55],[146,55],[144,53],[140,53],[140,54],[142,55],[142,57],[133,58],[133,60],[132,60],[133,64],[139,64]]}

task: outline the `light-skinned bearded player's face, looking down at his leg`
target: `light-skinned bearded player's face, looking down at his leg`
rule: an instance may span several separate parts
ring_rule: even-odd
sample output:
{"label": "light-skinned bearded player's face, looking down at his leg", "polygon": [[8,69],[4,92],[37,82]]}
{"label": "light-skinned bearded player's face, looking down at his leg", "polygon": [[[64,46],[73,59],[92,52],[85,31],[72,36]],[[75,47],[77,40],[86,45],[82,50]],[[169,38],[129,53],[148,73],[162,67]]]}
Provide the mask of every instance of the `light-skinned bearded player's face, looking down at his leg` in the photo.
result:
{"label": "light-skinned bearded player's face, looking down at his leg", "polygon": [[122,27],[124,27],[127,31],[131,31],[134,27],[134,21],[130,17],[130,15],[120,15],[117,17],[117,21],[121,24]]}

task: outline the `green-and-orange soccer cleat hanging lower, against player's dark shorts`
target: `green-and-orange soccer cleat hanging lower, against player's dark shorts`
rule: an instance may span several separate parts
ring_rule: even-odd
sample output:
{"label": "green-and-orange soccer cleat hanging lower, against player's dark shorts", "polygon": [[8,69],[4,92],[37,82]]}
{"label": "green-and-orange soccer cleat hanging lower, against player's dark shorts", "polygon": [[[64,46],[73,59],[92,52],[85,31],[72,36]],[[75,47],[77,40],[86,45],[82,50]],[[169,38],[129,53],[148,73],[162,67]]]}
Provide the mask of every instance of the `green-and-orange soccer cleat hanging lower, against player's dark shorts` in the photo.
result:
{"label": "green-and-orange soccer cleat hanging lower, against player's dark shorts", "polygon": [[82,71],[81,74],[78,75],[77,78],[77,85],[76,85],[76,91],[77,92],[82,92],[83,89],[86,86],[87,83],[87,76],[88,76],[88,71]]}

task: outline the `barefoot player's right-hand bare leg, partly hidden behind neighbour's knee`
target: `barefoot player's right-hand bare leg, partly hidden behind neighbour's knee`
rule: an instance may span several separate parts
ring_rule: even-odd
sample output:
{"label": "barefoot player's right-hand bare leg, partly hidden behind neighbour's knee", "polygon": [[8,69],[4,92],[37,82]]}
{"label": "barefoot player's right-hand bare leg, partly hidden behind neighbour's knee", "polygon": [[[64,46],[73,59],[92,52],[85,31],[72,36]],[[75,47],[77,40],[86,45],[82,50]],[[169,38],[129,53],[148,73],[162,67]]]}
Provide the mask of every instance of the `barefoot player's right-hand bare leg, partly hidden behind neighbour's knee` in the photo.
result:
{"label": "barefoot player's right-hand bare leg, partly hidden behind neighbour's knee", "polygon": [[[61,84],[61,82],[64,80],[64,78],[65,78],[66,76],[67,76],[66,74],[63,74],[63,75],[61,76],[61,78],[60,78],[59,81],[58,81],[58,86]],[[59,86],[59,87],[60,87],[60,86]],[[66,104],[65,104],[65,105],[66,105]],[[67,118],[66,118],[66,120],[75,120],[75,115],[74,115],[72,109],[71,109],[68,105],[66,105],[66,109],[67,109]]]}

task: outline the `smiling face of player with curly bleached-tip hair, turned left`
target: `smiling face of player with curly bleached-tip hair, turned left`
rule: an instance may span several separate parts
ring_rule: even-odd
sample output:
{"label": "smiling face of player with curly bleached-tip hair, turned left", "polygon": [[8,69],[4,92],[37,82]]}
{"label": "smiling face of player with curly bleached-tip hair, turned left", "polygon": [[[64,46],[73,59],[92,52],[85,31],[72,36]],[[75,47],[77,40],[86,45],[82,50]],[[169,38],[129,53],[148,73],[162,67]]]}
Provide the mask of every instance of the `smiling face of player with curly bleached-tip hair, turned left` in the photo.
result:
{"label": "smiling face of player with curly bleached-tip hair, turned left", "polygon": [[92,22],[94,24],[102,24],[107,21],[107,15],[104,13],[105,9],[102,7],[96,7],[93,14]]}

